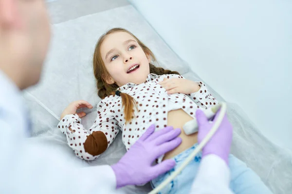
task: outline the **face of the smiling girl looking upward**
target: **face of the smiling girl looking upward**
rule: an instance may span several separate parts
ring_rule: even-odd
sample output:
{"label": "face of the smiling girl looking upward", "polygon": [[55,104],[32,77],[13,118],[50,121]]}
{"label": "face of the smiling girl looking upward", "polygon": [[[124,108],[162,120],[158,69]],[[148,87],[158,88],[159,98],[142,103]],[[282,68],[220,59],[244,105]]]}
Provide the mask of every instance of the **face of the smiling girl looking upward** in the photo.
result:
{"label": "face of the smiling girl looking upward", "polygon": [[127,32],[108,34],[100,54],[110,73],[110,78],[105,78],[108,84],[116,83],[120,87],[129,82],[140,84],[146,81],[150,58]]}

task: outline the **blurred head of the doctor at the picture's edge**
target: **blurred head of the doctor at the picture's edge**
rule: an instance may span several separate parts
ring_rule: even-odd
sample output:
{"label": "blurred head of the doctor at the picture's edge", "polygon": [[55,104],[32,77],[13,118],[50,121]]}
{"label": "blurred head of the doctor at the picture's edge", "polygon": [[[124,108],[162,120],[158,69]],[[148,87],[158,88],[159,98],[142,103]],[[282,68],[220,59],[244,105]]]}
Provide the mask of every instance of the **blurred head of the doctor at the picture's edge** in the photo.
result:
{"label": "blurred head of the doctor at the picture's edge", "polygon": [[0,0],[0,69],[20,89],[39,81],[49,41],[45,0]]}

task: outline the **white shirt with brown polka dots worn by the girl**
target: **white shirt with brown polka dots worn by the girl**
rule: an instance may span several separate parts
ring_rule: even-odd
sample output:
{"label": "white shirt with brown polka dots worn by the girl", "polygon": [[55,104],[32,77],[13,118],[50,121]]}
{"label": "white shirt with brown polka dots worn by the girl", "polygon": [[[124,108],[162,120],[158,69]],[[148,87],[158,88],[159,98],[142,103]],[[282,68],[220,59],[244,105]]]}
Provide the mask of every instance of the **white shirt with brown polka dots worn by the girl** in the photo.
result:
{"label": "white shirt with brown polka dots worn by the girl", "polygon": [[[84,142],[94,131],[102,131],[106,135],[108,147],[121,131],[122,141],[128,150],[151,124],[156,125],[156,130],[166,127],[169,111],[183,109],[195,118],[197,109],[207,109],[218,103],[205,84],[200,81],[197,83],[201,88],[196,93],[168,95],[159,85],[164,78],[185,79],[176,74],[162,76],[149,74],[144,83],[128,83],[118,88],[119,91],[133,97],[137,103],[138,110],[134,111],[132,120],[127,124],[124,119],[122,98],[112,95],[104,98],[97,105],[97,117],[89,130],[84,129],[80,124],[81,119],[76,114],[66,115],[58,124],[58,128],[66,135],[68,145],[73,148],[79,158],[94,160],[98,156],[92,156],[84,150]],[[69,127],[73,132],[69,130]],[[158,161],[160,162],[161,159],[162,157]]]}

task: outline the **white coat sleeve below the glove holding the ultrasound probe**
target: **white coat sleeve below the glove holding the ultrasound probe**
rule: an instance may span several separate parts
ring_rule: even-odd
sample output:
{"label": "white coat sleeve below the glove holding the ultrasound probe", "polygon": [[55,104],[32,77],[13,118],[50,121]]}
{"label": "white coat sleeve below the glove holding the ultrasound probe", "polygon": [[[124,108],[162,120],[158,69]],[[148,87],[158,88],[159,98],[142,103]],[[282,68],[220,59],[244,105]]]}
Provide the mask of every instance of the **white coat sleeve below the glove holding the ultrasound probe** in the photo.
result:
{"label": "white coat sleeve below the glove holding the ultrasound probe", "polygon": [[221,158],[210,154],[201,160],[190,194],[233,194],[229,184],[228,166]]}

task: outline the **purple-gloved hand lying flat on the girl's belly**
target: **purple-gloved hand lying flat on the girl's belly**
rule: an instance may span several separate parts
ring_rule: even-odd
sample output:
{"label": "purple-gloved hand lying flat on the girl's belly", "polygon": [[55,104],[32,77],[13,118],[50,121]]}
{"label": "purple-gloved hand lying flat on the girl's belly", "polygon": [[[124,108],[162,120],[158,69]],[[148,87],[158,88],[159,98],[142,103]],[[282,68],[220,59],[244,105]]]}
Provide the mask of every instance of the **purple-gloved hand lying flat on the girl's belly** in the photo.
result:
{"label": "purple-gloved hand lying flat on the girl's belly", "polygon": [[178,137],[181,129],[166,127],[154,131],[155,125],[151,125],[121,160],[111,166],[116,175],[117,188],[145,184],[174,167],[175,161],[172,159],[154,166],[151,164],[181,144],[182,139]]}

